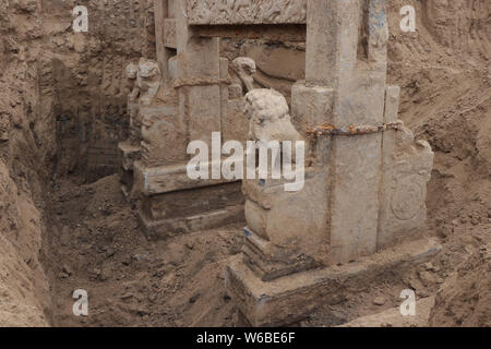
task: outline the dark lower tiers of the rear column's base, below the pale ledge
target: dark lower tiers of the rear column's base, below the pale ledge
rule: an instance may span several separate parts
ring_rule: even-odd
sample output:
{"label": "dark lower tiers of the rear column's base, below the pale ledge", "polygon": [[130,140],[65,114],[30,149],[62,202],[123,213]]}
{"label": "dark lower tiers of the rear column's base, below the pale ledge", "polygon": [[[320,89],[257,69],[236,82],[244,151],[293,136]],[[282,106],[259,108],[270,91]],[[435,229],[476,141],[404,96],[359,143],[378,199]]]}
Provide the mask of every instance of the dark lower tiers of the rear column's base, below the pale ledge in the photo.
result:
{"label": "dark lower tiers of the rear column's base, below the pale ledge", "polygon": [[149,240],[244,224],[241,183],[188,189],[142,198],[139,219]]}

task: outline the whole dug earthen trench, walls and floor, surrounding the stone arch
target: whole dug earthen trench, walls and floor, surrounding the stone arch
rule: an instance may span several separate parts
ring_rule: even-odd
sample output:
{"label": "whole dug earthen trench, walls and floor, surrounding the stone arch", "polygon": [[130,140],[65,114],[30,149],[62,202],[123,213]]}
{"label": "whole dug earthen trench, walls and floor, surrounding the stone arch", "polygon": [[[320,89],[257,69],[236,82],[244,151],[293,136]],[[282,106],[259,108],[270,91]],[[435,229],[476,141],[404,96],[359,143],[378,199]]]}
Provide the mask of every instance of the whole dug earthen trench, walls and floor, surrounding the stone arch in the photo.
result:
{"label": "whole dug earthen trench, walls and floor, surrounding the stone arch", "polygon": [[[448,7],[442,1],[409,2],[426,15],[418,17],[418,33],[399,33],[398,9],[406,1],[391,2],[388,74],[402,87],[399,118],[435,152],[428,234],[443,251],[406,273],[360,284],[301,326],[491,325],[489,9],[484,0],[471,7],[464,0]],[[136,49],[129,52],[111,47],[109,32],[84,41],[61,29],[46,47],[29,34],[29,19],[58,21],[58,13],[2,5],[0,11],[7,11],[2,19],[10,19],[1,27],[7,25],[5,33],[15,38],[0,50],[0,121],[1,127],[5,120],[12,124],[7,136],[0,129],[0,324],[236,325],[223,269],[241,253],[243,225],[149,242],[140,232],[137,202],[123,197],[118,174],[111,174],[118,167],[117,141],[128,128],[118,109],[125,91],[115,67],[137,58],[140,48],[134,43],[129,46]],[[25,25],[15,32],[9,27],[14,22]],[[145,35],[133,31],[124,37],[139,41]],[[254,43],[224,45],[224,56],[236,55],[237,47],[241,55],[256,55],[258,79],[277,82],[267,59],[289,47],[267,46],[270,51]],[[60,48],[62,53],[55,57]],[[303,55],[301,48],[295,51]],[[33,63],[37,58],[37,67],[25,68],[23,59]],[[86,81],[80,64],[95,70]],[[274,68],[288,71],[291,64],[286,59]],[[97,75],[104,75],[101,81]],[[64,85],[72,77],[82,82]],[[279,87],[285,86],[280,81]],[[96,98],[103,91],[109,96]],[[77,289],[88,293],[88,316],[73,314]],[[416,317],[398,313],[404,289],[416,291]]]}

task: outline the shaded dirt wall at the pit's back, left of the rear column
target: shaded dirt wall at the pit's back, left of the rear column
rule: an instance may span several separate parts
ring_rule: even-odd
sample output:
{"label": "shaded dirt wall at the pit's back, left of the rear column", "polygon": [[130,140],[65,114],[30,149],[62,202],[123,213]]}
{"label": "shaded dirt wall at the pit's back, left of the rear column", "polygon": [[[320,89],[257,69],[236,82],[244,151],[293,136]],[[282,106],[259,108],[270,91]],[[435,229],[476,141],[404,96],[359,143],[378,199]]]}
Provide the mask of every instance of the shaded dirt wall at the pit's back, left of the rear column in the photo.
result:
{"label": "shaded dirt wall at the pit's back, left of the rear column", "polygon": [[[88,32],[74,33],[72,10],[88,10]],[[43,106],[56,119],[58,176],[94,181],[117,172],[128,133],[124,70],[155,58],[153,1],[43,0]]]}

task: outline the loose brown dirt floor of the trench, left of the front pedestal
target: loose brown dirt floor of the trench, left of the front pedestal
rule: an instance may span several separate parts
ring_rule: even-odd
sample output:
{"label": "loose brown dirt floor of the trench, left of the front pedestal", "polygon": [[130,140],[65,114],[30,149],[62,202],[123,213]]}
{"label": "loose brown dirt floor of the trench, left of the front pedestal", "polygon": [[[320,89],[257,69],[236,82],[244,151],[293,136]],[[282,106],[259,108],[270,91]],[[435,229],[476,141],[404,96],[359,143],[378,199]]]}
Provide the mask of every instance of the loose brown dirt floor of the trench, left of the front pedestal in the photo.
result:
{"label": "loose brown dirt floor of the trench, left of the front pedestal", "polygon": [[[117,176],[61,183],[53,193],[55,324],[62,326],[225,326],[232,306],[223,267],[241,248],[241,227],[149,243]],[[89,316],[75,317],[85,289]]]}

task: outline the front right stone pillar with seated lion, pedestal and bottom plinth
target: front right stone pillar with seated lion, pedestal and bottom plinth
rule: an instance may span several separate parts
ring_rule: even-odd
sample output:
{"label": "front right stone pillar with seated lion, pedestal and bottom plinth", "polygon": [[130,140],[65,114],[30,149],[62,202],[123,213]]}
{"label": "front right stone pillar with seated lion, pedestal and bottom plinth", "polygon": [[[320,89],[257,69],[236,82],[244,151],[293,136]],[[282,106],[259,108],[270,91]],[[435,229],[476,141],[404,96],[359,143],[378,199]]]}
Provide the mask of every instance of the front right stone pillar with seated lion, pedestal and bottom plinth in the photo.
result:
{"label": "front right stone pillar with seated lion, pedestal and bottom plinth", "polygon": [[[300,132],[289,117],[272,121],[288,113],[277,95],[255,105],[248,97],[261,89],[246,97],[251,140],[309,135],[303,190],[285,192],[280,180],[243,182],[246,244],[227,268],[226,287],[254,326],[295,323],[350,280],[392,275],[440,250],[418,240],[433,154],[397,122],[399,89],[386,86],[384,7],[308,0],[306,82],[291,94]],[[312,136],[312,128],[349,131]],[[362,129],[373,132],[356,131]]]}

